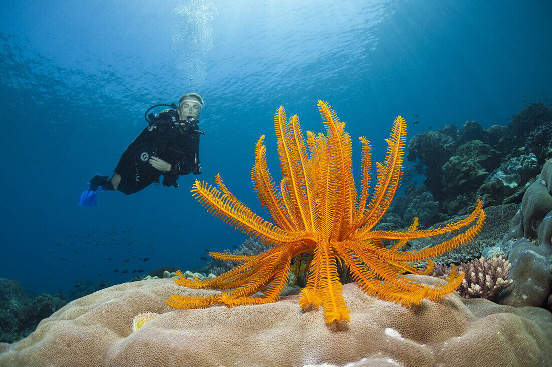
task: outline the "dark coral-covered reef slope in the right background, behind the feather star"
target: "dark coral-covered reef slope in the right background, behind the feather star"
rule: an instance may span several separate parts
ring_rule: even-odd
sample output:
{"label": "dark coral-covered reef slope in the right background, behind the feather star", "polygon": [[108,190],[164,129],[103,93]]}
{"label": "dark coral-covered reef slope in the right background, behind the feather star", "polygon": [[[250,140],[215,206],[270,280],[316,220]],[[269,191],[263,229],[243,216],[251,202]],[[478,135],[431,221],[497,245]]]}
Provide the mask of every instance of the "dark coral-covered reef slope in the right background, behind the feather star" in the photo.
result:
{"label": "dark coral-covered reef slope in the right background, behind the feather star", "polygon": [[539,165],[552,157],[551,133],[552,112],[537,102],[508,126],[493,125],[485,131],[476,121],[467,121],[460,130],[447,125],[417,134],[408,143],[407,158],[416,162],[426,177],[424,185],[439,203],[427,225],[466,214],[477,197],[485,207],[520,203]]}

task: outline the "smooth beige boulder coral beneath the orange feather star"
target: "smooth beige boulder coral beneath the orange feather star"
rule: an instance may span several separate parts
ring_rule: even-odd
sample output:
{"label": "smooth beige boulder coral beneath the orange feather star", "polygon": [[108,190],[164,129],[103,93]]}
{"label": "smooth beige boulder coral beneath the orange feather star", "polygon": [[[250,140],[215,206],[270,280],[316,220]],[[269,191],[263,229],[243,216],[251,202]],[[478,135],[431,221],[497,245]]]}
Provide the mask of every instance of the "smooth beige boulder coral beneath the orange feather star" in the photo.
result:
{"label": "smooth beige boulder coral beneath the orange feather star", "polygon": [[[443,280],[411,276],[429,284]],[[0,343],[0,366],[548,366],[552,314],[452,294],[402,307],[343,293],[351,322],[327,325],[298,296],[277,303],[173,310],[171,294],[208,295],[169,279],[115,285],[72,301],[29,337]],[[132,321],[159,314],[135,332]]]}

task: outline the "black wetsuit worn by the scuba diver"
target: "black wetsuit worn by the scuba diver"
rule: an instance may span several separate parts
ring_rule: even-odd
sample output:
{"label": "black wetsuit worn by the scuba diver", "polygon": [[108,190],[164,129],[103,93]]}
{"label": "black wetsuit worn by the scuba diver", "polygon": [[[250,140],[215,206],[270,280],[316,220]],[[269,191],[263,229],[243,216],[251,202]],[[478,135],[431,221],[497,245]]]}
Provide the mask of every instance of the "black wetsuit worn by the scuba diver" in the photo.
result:
{"label": "black wetsuit worn by the scuba diver", "polygon": [[[163,185],[177,187],[178,175],[200,174],[200,133],[194,130],[198,130],[197,122],[190,123],[187,129],[161,124],[146,127],[125,149],[114,169],[121,176],[117,190],[130,195],[152,182],[158,183],[161,175]],[[171,164],[171,170],[162,172],[153,168],[151,156]]]}

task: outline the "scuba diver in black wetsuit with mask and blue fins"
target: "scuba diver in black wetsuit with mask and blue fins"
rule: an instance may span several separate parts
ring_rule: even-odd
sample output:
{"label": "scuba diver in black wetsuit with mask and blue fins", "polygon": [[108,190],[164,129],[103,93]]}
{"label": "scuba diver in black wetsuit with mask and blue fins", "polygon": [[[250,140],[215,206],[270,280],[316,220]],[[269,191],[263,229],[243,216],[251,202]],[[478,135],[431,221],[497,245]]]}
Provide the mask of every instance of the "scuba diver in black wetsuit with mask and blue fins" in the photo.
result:
{"label": "scuba diver in black wetsuit with mask and blue fins", "polygon": [[[169,106],[159,114],[147,113],[154,107]],[[155,105],[144,114],[148,126],[125,149],[114,175],[94,175],[78,201],[80,206],[91,208],[97,202],[97,191],[118,190],[126,195],[138,192],[155,182],[178,187],[179,175],[201,173],[199,165],[199,136],[197,118],[203,109],[203,99],[196,93],[184,94],[178,106]]]}

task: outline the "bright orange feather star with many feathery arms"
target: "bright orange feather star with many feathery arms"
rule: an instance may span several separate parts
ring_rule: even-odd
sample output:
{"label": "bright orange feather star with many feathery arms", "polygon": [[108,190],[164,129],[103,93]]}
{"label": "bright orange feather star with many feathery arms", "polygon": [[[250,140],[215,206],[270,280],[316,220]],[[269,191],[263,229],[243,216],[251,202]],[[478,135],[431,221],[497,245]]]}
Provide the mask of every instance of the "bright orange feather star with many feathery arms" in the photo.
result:
{"label": "bright orange feather star with many feathery arms", "polygon": [[[179,309],[197,309],[216,304],[227,306],[255,305],[277,301],[289,279],[293,258],[311,257],[306,287],[299,304],[303,310],[323,305],[326,322],[347,320],[349,310],[343,299],[337,273],[346,265],[362,290],[381,299],[408,306],[424,298],[437,300],[453,292],[464,278],[453,272],[447,285],[431,287],[405,277],[404,273],[431,273],[429,257],[470,241],[479,233],[485,212],[481,201],[467,218],[444,228],[418,230],[417,218],[406,231],[373,230],[389,208],[400,183],[406,141],[406,123],[395,119],[391,136],[386,139],[388,154],[377,163],[374,193],[367,203],[370,177],[371,145],[360,137],[362,148],[362,182],[360,192],[353,180],[351,137],[344,131],[336,113],[324,101],[318,107],[326,136],[307,131],[302,135],[297,115],[286,119],[283,107],[275,115],[278,155],[283,179],[276,186],[266,164],[264,136],[257,142],[252,181],[266,212],[267,222],[251,212],[216,176],[218,188],[195,181],[192,193],[206,209],[226,223],[272,248],[257,256],[236,256],[211,252],[211,257],[240,264],[209,280],[185,279],[179,272],[175,282],[189,288],[217,288],[222,294],[208,297],[173,295],[167,303]],[[403,251],[407,240],[451,233],[464,228],[451,239],[428,249]],[[385,248],[381,239],[397,240]],[[422,263],[427,267],[423,269]],[[262,296],[252,297],[263,290]]]}

